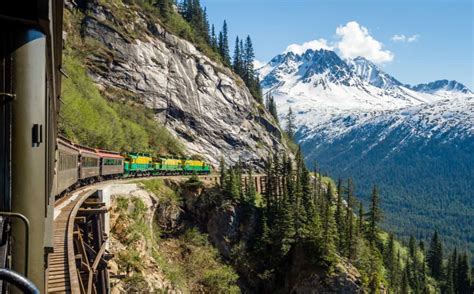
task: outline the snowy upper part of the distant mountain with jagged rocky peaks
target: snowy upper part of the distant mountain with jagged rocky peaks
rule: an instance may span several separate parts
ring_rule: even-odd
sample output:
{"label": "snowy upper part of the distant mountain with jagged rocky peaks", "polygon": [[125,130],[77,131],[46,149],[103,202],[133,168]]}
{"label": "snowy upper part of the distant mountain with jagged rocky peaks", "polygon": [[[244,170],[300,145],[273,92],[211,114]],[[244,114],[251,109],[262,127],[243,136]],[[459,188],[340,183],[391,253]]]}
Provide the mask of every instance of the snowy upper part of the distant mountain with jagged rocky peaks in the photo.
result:
{"label": "snowy upper part of the distant mountain with jagged rocky peaks", "polygon": [[263,92],[274,96],[282,117],[291,107],[307,136],[313,136],[311,130],[324,132],[327,140],[348,131],[348,124],[355,126],[390,110],[473,96],[455,81],[403,85],[363,57],[344,61],[325,49],[277,55],[259,74]]}

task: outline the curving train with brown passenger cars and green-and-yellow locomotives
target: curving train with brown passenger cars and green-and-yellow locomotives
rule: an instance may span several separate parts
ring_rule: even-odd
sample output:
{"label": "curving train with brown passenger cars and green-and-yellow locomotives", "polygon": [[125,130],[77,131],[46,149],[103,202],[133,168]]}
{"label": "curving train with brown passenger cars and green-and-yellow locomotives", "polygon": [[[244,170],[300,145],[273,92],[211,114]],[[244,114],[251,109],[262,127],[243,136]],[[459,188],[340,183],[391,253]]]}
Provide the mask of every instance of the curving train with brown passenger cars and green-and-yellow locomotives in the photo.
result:
{"label": "curving train with brown passenger cars and green-and-yellow locomotives", "polygon": [[205,175],[211,166],[189,157],[152,156],[143,152],[119,153],[74,144],[59,136],[57,181],[58,197],[77,186],[117,178],[161,175]]}

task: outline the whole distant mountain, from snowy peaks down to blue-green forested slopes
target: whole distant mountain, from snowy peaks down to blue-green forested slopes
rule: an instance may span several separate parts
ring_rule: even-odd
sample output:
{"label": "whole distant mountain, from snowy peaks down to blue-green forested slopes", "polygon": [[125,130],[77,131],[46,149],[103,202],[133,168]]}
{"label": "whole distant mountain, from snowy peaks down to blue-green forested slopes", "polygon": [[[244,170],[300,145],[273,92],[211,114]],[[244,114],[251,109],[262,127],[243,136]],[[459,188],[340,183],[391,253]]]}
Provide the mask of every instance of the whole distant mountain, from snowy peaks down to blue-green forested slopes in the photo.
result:
{"label": "whole distant mountain, from snowy peaks down to blue-green forested slopes", "polygon": [[450,224],[474,225],[449,206],[474,210],[474,94],[467,87],[448,80],[406,85],[365,58],[342,60],[329,50],[280,54],[259,75],[282,124],[289,107],[296,115],[308,166],[354,178],[362,198],[377,183],[391,229],[446,226],[440,211]]}

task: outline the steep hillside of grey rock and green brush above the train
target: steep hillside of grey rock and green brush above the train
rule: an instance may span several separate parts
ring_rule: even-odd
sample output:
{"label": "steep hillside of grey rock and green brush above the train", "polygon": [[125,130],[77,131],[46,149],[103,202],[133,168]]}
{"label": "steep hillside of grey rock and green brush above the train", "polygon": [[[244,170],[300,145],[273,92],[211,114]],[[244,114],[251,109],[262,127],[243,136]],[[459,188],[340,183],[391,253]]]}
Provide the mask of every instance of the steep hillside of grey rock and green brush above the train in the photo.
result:
{"label": "steep hillside of grey rock and green brush above the train", "polygon": [[[92,144],[122,150],[165,145],[153,151],[196,155],[214,166],[222,156],[229,163],[241,158],[261,168],[270,150],[285,150],[278,125],[244,82],[191,42],[167,32],[144,2],[71,2],[68,7],[66,68],[84,66],[88,77],[83,79],[99,89],[77,86],[83,95],[71,97],[68,92],[77,82],[66,80],[62,130],[69,137],[91,144],[99,135],[120,134],[123,126],[121,144],[115,142],[120,136]],[[84,96],[100,101],[95,103],[100,112],[86,108]],[[95,116],[89,119],[91,112]],[[81,129],[91,121],[97,122],[89,127],[94,131]],[[169,146],[162,138],[179,143]]]}

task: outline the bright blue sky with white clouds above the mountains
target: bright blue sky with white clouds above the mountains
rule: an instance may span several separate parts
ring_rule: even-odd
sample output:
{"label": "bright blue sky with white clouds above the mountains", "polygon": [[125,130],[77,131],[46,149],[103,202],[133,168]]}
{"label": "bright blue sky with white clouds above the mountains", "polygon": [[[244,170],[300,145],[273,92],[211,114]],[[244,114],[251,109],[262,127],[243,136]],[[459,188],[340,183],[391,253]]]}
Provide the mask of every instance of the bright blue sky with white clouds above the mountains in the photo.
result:
{"label": "bright blue sky with white clouds above the mountains", "polygon": [[236,35],[250,34],[260,61],[319,40],[339,55],[366,54],[403,83],[455,79],[474,91],[473,2],[201,0],[217,30],[227,20],[231,51]]}

